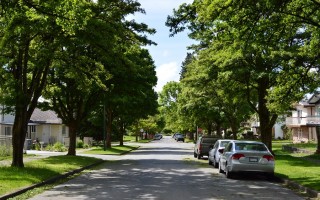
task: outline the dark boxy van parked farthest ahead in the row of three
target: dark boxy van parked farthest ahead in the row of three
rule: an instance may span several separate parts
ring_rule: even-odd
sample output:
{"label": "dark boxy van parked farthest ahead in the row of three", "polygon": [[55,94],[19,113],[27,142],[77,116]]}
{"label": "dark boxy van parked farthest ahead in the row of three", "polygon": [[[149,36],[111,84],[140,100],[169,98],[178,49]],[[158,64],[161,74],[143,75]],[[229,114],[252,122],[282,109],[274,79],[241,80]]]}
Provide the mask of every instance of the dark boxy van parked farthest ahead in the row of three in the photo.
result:
{"label": "dark boxy van parked farthest ahead in the row of three", "polygon": [[194,157],[195,158],[202,158],[203,156],[209,155],[210,146],[214,145],[214,143],[219,138],[213,136],[202,136],[199,137],[196,144],[194,145]]}

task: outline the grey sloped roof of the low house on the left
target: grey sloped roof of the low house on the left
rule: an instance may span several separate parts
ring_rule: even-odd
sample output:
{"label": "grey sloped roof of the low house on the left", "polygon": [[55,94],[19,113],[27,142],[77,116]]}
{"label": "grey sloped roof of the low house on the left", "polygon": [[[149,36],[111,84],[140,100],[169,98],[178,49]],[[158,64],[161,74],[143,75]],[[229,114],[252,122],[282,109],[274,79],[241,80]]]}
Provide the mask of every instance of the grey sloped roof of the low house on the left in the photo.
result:
{"label": "grey sloped roof of the low house on the left", "polygon": [[45,123],[45,124],[62,124],[62,120],[58,115],[51,110],[42,111],[36,108],[30,118],[30,122],[33,123]]}

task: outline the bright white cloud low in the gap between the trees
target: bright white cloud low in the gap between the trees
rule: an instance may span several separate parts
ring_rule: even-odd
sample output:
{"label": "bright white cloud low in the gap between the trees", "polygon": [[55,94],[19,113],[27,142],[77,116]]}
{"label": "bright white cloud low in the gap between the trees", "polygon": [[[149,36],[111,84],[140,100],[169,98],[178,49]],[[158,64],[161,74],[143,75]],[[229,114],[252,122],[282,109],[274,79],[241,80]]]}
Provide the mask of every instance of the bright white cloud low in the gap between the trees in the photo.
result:
{"label": "bright white cloud low in the gap between the trees", "polygon": [[156,92],[160,92],[162,87],[170,81],[179,81],[181,67],[176,62],[170,62],[160,65],[156,68],[158,83],[155,88]]}

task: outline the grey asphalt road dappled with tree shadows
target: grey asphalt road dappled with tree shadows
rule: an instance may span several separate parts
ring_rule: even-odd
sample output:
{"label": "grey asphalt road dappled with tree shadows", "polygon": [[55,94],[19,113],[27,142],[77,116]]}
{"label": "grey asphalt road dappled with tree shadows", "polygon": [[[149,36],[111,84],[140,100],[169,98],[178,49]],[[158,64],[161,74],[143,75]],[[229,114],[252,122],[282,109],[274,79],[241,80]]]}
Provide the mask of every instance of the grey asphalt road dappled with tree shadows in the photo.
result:
{"label": "grey asphalt road dappled with tree shadows", "polygon": [[32,199],[304,199],[262,176],[227,179],[206,163],[193,157],[193,144],[164,138]]}

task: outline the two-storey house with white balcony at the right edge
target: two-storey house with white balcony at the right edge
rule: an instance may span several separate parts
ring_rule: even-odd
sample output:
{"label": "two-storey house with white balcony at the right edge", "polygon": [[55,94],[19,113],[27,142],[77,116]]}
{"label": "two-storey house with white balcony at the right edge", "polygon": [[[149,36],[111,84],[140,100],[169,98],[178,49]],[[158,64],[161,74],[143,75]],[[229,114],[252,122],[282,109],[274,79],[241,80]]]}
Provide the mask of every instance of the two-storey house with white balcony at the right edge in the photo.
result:
{"label": "two-storey house with white balcony at the right edge", "polygon": [[316,130],[320,127],[320,93],[296,103],[292,116],[286,118],[294,143],[317,141]]}

